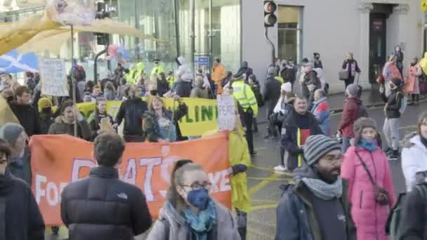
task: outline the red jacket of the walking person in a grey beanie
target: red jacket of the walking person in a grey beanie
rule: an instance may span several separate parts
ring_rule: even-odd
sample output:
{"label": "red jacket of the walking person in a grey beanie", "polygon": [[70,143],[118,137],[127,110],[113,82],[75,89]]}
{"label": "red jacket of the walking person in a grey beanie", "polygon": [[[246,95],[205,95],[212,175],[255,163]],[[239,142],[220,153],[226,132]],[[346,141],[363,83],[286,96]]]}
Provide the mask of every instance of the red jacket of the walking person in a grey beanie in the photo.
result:
{"label": "red jacket of the walking person in a grey beanie", "polygon": [[344,103],[343,116],[338,126],[338,131],[343,133],[343,137],[354,137],[353,124],[359,118],[359,105],[358,98],[347,98]]}

